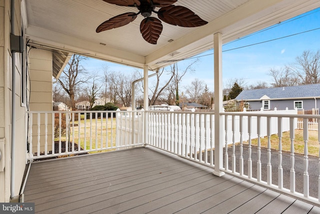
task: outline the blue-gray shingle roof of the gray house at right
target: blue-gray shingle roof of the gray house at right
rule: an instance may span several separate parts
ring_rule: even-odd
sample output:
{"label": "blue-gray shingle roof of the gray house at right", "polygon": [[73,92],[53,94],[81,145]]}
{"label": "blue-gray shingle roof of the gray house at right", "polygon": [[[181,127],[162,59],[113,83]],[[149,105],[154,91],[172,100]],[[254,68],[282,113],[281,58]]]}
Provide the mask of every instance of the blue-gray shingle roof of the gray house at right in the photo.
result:
{"label": "blue-gray shingle roof of the gray house at right", "polygon": [[243,90],[235,100],[319,98],[320,84]]}

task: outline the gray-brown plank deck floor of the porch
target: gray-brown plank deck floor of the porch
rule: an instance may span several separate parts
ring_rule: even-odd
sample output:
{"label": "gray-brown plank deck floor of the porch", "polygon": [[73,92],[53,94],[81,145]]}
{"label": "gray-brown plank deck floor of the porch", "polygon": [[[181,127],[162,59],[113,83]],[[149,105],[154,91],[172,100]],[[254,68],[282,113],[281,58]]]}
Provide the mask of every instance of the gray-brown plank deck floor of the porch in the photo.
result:
{"label": "gray-brown plank deck floor of the porch", "polygon": [[320,208],[152,148],[31,164],[36,213],[320,213]]}

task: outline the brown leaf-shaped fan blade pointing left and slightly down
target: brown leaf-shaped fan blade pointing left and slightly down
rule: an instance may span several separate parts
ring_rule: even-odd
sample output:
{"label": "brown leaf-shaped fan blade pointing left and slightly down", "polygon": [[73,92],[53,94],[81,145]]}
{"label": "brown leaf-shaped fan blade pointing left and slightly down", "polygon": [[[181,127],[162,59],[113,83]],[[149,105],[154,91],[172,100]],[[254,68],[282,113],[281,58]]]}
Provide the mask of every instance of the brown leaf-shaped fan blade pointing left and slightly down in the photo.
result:
{"label": "brown leaf-shaped fan blade pointing left and slightly down", "polygon": [[103,22],[101,25],[99,25],[95,32],[99,33],[101,31],[110,30],[113,28],[122,27],[126,24],[129,24],[133,20],[135,20],[136,14],[135,13],[125,13],[118,16],[115,16],[105,22]]}

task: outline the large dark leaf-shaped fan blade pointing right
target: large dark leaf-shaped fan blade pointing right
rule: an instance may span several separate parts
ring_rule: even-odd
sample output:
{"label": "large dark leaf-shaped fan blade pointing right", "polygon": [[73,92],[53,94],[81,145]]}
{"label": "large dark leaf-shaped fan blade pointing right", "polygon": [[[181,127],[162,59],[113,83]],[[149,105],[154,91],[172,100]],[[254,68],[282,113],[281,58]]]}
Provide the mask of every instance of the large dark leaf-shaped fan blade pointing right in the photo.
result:
{"label": "large dark leaf-shaped fan blade pointing right", "polygon": [[207,24],[206,21],[195,15],[191,10],[174,5],[161,8],[158,11],[158,18],[170,25],[181,27],[199,27]]}

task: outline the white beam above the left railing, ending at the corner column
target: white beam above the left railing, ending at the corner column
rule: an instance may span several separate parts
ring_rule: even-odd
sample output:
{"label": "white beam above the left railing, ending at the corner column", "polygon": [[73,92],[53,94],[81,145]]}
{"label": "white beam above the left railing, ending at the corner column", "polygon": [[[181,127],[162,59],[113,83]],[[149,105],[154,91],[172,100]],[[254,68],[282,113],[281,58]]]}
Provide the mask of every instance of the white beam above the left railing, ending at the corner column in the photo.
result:
{"label": "white beam above the left railing, ending at the corner column", "polygon": [[127,53],[111,47],[101,46],[100,44],[48,31],[35,26],[29,25],[25,35],[30,39],[30,43],[70,53],[82,54],[83,56],[122,65],[143,68],[145,62],[143,56]]}

